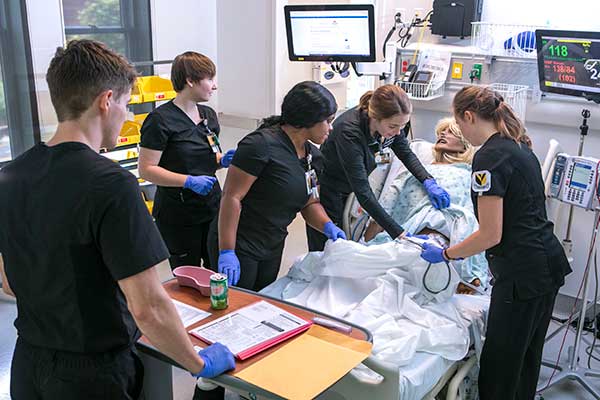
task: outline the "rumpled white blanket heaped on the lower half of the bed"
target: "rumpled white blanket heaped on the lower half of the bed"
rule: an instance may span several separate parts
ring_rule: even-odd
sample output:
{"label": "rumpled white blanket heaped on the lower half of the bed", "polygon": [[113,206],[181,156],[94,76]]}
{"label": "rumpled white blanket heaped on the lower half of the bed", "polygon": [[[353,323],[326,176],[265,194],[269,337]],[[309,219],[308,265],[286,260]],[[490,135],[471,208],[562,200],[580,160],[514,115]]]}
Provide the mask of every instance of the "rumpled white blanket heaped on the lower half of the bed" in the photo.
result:
{"label": "rumpled white blanket heaped on the lower half of the bed", "polygon": [[[419,255],[420,249],[408,242],[328,242],[324,252],[308,253],[292,266],[285,287],[278,281],[263,292],[279,292],[287,301],[369,329],[373,354],[396,365],[409,363],[415,352],[460,360],[469,348],[468,321],[459,303],[448,301],[458,275],[452,268],[448,288],[427,292],[423,275],[428,263]],[[446,266],[434,264],[428,287],[439,290],[447,278]]]}

